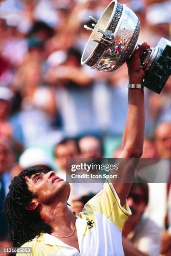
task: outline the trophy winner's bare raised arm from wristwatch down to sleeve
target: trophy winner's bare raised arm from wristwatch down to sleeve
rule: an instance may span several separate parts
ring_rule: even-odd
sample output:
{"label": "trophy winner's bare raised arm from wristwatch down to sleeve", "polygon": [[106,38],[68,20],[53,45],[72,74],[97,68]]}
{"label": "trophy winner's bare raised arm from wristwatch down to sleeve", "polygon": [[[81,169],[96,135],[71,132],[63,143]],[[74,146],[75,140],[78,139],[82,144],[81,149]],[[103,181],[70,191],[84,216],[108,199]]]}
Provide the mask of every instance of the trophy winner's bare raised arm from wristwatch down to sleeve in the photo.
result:
{"label": "trophy winner's bare raised arm from wristwatch down to sleeve", "polygon": [[119,182],[115,183],[116,180],[111,179],[113,187],[120,198],[121,206],[125,204],[126,198],[128,197],[135,169],[138,164],[137,158],[141,157],[142,154],[144,138],[143,90],[128,89],[128,102],[129,107],[123,133],[122,152],[119,156],[120,162],[117,171]]}

